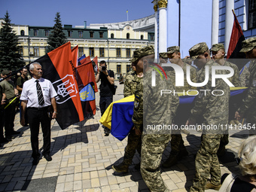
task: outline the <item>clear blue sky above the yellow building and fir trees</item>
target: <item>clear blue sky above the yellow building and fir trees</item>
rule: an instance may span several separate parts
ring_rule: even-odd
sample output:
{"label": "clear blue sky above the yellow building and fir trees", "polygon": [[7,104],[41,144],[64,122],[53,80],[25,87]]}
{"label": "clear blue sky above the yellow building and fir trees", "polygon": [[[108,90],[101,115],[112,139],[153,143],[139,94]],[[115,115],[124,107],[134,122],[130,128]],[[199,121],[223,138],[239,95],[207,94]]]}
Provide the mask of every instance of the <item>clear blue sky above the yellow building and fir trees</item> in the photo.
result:
{"label": "clear blue sky above the yellow building and fir trees", "polygon": [[53,26],[56,13],[62,25],[116,23],[154,14],[152,0],[0,0],[0,18],[6,11],[15,25]]}

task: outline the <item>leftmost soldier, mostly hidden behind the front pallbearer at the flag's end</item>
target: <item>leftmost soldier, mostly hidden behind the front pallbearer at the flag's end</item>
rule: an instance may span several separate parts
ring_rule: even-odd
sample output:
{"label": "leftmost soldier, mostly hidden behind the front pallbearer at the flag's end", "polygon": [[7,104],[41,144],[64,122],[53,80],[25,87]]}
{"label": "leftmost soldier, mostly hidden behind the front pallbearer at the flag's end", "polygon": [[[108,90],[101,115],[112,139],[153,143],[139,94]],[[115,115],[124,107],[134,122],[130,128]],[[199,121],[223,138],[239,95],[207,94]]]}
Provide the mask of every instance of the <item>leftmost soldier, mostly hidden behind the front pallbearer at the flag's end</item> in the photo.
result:
{"label": "leftmost soldier, mostly hidden behind the front pallbearer at the flag's end", "polygon": [[[134,62],[136,62],[136,59],[131,59],[132,66],[134,65]],[[124,81],[124,87],[123,87],[123,95],[126,96],[132,96],[134,95],[136,91],[137,84],[139,84],[140,81],[142,81],[142,77],[138,77],[137,75],[141,76],[140,74],[137,74],[136,71],[129,72],[128,75],[126,75],[125,81]],[[136,150],[139,154],[141,154],[142,150],[142,136],[136,135],[135,130],[130,130],[130,133],[128,135],[128,142],[124,151],[123,156],[123,162],[120,163],[118,166],[112,166],[114,171],[116,172],[128,172],[128,168],[130,164],[133,161],[133,156],[136,153]],[[136,165],[136,169],[139,169],[140,163]]]}

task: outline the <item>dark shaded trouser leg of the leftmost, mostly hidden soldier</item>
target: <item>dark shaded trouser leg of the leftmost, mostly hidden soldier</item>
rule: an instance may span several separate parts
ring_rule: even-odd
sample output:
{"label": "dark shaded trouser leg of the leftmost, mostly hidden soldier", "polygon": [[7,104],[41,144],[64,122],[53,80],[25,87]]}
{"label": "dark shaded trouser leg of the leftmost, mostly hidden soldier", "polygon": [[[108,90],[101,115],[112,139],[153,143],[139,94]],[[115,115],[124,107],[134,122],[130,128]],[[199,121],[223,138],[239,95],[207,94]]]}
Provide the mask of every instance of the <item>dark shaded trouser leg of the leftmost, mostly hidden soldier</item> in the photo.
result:
{"label": "dark shaded trouser leg of the leftmost, mostly hidden soldier", "polygon": [[142,151],[142,136],[137,136],[135,130],[131,130],[128,135],[128,142],[124,151],[123,164],[130,165],[132,163],[136,150],[140,155]]}

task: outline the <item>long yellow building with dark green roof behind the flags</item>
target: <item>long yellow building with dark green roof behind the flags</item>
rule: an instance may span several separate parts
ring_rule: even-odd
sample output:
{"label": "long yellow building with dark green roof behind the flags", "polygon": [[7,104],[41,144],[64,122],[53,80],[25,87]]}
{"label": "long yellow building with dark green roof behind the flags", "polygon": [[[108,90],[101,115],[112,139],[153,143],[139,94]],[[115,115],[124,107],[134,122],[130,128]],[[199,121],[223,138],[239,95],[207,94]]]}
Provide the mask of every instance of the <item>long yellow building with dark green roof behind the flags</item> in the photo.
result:
{"label": "long yellow building with dark green roof behind the flags", "polygon": [[[53,27],[12,25],[12,28],[19,38],[19,52],[26,64],[44,56]],[[85,54],[90,59],[97,56],[99,61],[105,60],[118,78],[130,70],[129,60],[136,48],[154,45],[154,15],[120,23],[64,25],[63,32],[72,47],[78,45],[78,56]]]}

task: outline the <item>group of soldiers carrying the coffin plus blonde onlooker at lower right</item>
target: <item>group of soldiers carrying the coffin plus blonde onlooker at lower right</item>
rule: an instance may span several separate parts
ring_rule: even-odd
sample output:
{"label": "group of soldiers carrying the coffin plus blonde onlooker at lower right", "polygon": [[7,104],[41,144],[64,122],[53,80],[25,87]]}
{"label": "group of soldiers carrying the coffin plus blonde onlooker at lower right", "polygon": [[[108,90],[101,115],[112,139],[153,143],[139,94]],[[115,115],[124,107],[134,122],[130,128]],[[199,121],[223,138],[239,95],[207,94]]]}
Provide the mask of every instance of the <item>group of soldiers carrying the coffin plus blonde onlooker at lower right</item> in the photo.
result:
{"label": "group of soldiers carrying the coffin plus blonde onlooker at lower right", "polygon": [[[186,156],[187,150],[181,137],[181,130],[148,130],[148,124],[181,124],[194,125],[203,123],[204,125],[229,125],[230,123],[240,123],[239,120],[246,118],[247,123],[256,126],[255,102],[256,102],[256,38],[248,38],[242,42],[242,50],[250,65],[243,66],[239,72],[236,65],[224,59],[225,50],[223,44],[213,44],[212,48],[206,43],[199,43],[190,48],[190,56],[181,59],[178,46],[169,47],[166,53],[160,53],[160,63],[171,62],[181,67],[184,71],[184,79],[187,74],[187,66],[190,65],[190,80],[192,82],[203,83],[206,79],[206,69],[209,69],[209,81],[201,87],[192,87],[184,82],[184,87],[175,87],[175,71],[166,71],[167,81],[163,81],[158,75],[155,86],[151,85],[152,63],[154,62],[154,47],[148,46],[134,51],[132,66],[133,72],[126,75],[124,81],[123,95],[135,95],[133,108],[134,127],[128,135],[128,143],[125,148],[123,162],[113,165],[115,172],[128,172],[128,167],[132,163],[136,150],[141,156],[141,162],[136,165],[140,169],[142,178],[151,191],[169,191],[169,188],[160,175],[160,166],[170,167],[175,165],[182,157]],[[212,53],[212,55],[211,55]],[[153,60],[153,62],[152,62]],[[168,61],[169,60],[169,61]],[[187,62],[187,63],[186,63]],[[192,64],[192,66],[191,66]],[[196,66],[195,69],[193,66]],[[245,96],[240,98],[239,105],[231,102],[230,87],[222,78],[215,81],[212,86],[212,68],[218,66],[228,66],[233,69],[234,74],[228,78],[234,87],[248,87]],[[216,70],[215,75],[227,75],[227,70]],[[220,77],[219,76],[219,77]],[[205,94],[197,94],[194,103],[191,105],[179,105],[176,94],[160,95],[161,90],[175,90],[176,92],[187,90],[209,90]],[[211,94],[212,91],[221,91],[218,96]],[[255,156],[255,127],[249,131],[250,147],[241,146],[239,158],[245,162],[240,163],[242,175],[237,178],[249,182],[250,187],[255,189],[256,156]],[[168,159],[162,164],[162,154],[171,142],[172,151]],[[252,142],[253,141],[253,142]],[[224,155],[228,144],[228,130],[205,129],[201,136],[200,149],[195,157],[196,174],[190,191],[204,191],[206,189],[219,190],[221,188],[221,169],[218,156]],[[246,148],[246,149],[244,149]],[[242,151],[242,152],[241,152]],[[245,152],[243,152],[245,151]],[[251,153],[251,154],[250,154]],[[250,157],[246,157],[250,155]],[[249,160],[248,160],[249,159]],[[244,166],[250,172],[243,171]],[[224,175],[224,177],[227,175]],[[222,182],[224,180],[222,179]],[[247,178],[247,179],[246,179]],[[224,181],[225,182],[225,181]],[[234,186],[239,181],[234,182]],[[231,191],[235,190],[233,187]],[[226,191],[226,190],[222,190]],[[227,190],[230,191],[230,190]],[[246,190],[251,191],[251,190]]]}

